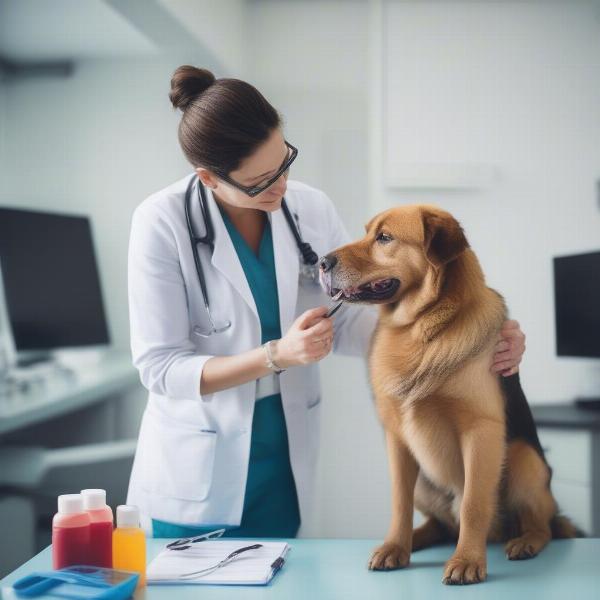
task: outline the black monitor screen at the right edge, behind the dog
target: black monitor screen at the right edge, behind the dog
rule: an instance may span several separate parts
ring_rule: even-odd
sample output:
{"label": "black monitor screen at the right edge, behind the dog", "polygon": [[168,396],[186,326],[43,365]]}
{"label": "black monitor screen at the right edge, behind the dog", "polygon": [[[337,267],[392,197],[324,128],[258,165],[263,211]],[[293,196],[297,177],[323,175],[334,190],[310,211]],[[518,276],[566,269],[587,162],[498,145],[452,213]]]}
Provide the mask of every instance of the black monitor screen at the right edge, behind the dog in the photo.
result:
{"label": "black monitor screen at the right edge, behind the dog", "polygon": [[600,357],[600,252],[554,259],[556,352]]}

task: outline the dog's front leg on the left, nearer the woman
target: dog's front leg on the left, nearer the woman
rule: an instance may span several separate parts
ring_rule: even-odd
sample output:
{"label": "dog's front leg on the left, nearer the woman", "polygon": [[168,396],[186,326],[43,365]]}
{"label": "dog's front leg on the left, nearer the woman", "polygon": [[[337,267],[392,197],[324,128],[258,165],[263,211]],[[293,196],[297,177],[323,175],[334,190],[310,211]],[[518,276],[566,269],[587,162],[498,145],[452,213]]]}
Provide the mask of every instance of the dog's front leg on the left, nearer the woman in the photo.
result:
{"label": "dog's front leg on the left, nearer the woman", "polygon": [[413,530],[413,499],[419,467],[404,442],[386,431],[392,482],[392,522],[383,545],[373,551],[369,569],[406,567],[410,561]]}

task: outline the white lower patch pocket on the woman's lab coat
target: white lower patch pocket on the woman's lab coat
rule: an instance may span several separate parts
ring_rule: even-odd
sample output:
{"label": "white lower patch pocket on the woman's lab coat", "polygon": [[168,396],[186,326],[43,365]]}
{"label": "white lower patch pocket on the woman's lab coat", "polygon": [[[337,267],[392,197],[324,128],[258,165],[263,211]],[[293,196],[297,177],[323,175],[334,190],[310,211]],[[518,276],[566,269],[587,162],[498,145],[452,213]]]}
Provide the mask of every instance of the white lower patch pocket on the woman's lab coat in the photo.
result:
{"label": "white lower patch pocket on the woman's lab coat", "polygon": [[140,432],[142,485],[178,500],[201,502],[210,492],[217,433],[147,412]]}

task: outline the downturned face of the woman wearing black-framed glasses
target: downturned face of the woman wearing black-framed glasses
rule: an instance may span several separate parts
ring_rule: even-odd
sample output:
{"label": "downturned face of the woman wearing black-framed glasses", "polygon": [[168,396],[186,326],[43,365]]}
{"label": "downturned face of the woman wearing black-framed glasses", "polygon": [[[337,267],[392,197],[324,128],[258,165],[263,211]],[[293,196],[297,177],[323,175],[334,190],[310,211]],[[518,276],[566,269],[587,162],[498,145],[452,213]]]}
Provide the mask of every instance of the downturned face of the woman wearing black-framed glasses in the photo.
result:
{"label": "downturned face of the woman wearing black-framed glasses", "polygon": [[[283,134],[279,129],[275,129],[254,154],[243,160],[235,171],[229,173],[229,178],[243,186],[259,186],[277,173],[288,158],[288,153],[289,149]],[[213,191],[217,200],[235,208],[252,208],[265,212],[278,210],[287,188],[288,171],[264,192],[253,198],[223,181],[212,171],[198,168],[196,172],[202,183]]]}

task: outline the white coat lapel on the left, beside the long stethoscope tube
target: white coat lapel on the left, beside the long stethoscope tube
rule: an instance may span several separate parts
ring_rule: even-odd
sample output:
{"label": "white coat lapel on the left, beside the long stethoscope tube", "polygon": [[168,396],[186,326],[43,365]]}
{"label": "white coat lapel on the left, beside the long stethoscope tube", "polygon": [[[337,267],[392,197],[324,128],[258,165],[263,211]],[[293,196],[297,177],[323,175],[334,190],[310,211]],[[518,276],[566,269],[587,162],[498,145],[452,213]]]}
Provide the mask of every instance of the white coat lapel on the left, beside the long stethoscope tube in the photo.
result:
{"label": "white coat lapel on the left, beside the long stethoscope tube", "polygon": [[250,291],[242,263],[229,237],[229,232],[225,227],[221,211],[217,206],[212,192],[210,190],[207,191],[208,210],[215,230],[215,249],[211,259],[212,265],[229,280],[229,283],[239,292],[258,319],[256,303]]}

